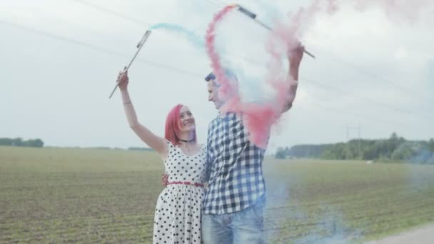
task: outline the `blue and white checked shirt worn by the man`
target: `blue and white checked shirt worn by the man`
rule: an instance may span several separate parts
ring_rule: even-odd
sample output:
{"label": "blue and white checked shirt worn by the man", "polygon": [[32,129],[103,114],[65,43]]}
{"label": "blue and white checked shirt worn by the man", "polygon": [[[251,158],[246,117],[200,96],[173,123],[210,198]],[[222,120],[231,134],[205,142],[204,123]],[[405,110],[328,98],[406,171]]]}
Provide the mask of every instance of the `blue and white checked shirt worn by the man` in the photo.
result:
{"label": "blue and white checked shirt worn by the man", "polygon": [[206,154],[209,180],[203,213],[243,210],[265,194],[262,173],[265,150],[248,140],[248,132],[235,113],[211,121]]}

